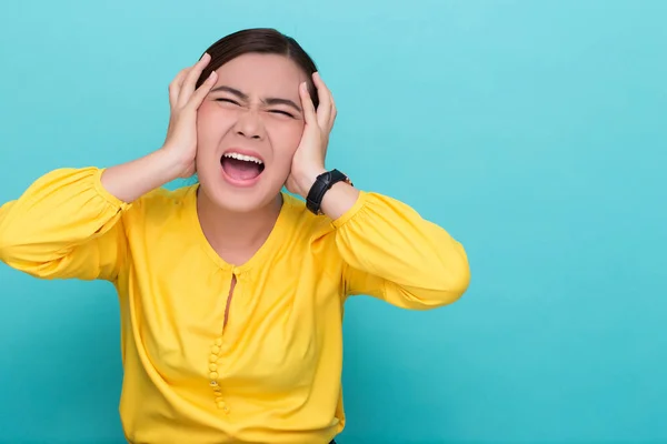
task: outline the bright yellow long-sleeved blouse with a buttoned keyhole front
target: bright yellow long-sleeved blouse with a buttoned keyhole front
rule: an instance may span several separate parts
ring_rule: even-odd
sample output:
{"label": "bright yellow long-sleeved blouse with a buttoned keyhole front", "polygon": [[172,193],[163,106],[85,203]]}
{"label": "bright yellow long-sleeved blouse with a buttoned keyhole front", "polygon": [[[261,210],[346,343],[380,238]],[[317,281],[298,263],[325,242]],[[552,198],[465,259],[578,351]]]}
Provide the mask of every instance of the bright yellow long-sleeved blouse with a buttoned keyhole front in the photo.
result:
{"label": "bright yellow long-sleeved blouse with a buttoned keyhole front", "polygon": [[426,310],[469,283],[457,241],[377,193],[334,221],[286,193],[266,243],[232,265],[200,229],[197,185],[125,203],[102,171],[52,171],[0,208],[0,260],[113,283],[131,443],[328,443],[345,425],[346,297]]}

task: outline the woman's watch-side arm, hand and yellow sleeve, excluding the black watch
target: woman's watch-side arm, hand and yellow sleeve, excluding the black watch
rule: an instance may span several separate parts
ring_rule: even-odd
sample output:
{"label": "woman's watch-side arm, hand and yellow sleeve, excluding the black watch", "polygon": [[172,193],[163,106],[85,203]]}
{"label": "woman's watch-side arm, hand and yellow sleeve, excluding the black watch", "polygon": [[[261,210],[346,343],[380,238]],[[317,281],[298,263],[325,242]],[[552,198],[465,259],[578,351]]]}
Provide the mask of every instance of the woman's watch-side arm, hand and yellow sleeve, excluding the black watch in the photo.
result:
{"label": "woman's watch-side arm, hand and yellow sleeve, excluding the black watch", "polygon": [[[288,190],[303,199],[325,172],[328,135],[336,119],[331,92],[313,75],[319,107],[305,83],[301,142],[295,152]],[[425,310],[459,299],[470,281],[464,248],[444,229],[405,203],[336,183],[320,205],[334,223],[342,260],[346,295],[368,294],[406,309]]]}

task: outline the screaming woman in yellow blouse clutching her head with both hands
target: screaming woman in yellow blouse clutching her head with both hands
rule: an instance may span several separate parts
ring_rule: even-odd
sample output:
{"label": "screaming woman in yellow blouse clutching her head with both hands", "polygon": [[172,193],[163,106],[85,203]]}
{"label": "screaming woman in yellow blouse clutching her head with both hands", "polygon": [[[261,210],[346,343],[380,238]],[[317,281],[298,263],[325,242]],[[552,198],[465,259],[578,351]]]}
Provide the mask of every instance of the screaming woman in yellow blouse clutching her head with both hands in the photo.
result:
{"label": "screaming woman in yellow blouse clutching her head with both hands", "polygon": [[129,442],[328,443],[345,425],[346,297],[442,306],[468,286],[466,253],[408,205],[325,169],[336,105],[291,38],[219,40],[169,101],[157,151],[52,171],[4,204],[0,259],[113,283]]}

